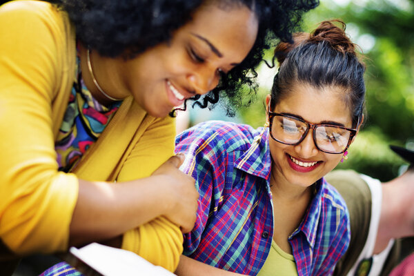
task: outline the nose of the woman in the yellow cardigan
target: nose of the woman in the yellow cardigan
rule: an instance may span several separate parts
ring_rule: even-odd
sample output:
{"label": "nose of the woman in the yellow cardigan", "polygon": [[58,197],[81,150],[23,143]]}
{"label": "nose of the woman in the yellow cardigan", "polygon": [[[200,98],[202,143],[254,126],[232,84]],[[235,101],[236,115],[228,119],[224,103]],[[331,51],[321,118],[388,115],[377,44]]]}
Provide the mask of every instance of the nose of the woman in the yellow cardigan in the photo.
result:
{"label": "nose of the woman in the yellow cardigan", "polygon": [[219,84],[219,74],[215,68],[197,68],[187,76],[191,86],[199,95],[204,95]]}

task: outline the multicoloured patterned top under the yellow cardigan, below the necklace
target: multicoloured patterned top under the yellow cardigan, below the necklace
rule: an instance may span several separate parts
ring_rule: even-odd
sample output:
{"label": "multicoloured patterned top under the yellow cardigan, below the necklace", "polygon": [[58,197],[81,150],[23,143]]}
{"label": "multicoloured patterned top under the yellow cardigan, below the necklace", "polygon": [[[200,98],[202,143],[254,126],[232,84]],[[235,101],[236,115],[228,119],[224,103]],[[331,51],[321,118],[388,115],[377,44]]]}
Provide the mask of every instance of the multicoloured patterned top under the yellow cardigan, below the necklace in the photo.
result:
{"label": "multicoloured patterned top under the yellow cardigan, below the necklace", "polygon": [[[79,58],[77,66],[80,68]],[[83,83],[78,69],[68,108],[55,141],[59,170],[72,170],[86,150],[97,141],[120,105],[121,101],[117,101],[106,107],[96,101]]]}

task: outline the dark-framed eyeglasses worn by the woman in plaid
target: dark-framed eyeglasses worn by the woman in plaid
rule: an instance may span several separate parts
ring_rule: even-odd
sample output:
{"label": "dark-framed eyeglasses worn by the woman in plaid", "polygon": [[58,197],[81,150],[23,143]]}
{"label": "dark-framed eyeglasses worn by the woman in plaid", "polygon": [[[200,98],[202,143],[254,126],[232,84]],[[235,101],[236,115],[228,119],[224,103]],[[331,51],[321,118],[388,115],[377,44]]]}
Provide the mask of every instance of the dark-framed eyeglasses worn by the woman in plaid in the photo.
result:
{"label": "dark-framed eyeglasses worn by the woman in plaid", "polygon": [[345,152],[351,144],[357,130],[330,124],[311,124],[292,115],[268,112],[270,137],[285,145],[300,144],[313,130],[313,141],[318,150],[339,154]]}

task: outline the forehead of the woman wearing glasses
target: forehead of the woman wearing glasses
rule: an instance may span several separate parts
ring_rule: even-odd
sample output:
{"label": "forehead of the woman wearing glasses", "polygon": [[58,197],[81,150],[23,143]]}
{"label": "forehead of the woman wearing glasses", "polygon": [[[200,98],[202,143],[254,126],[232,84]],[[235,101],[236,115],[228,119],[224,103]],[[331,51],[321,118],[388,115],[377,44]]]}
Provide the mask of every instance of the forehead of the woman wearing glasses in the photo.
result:
{"label": "forehead of the woman wearing glasses", "polygon": [[277,112],[292,113],[313,124],[335,121],[348,128],[352,127],[351,110],[341,95],[345,92],[342,88],[316,88],[309,84],[296,83],[289,90],[286,97],[275,106]]}

